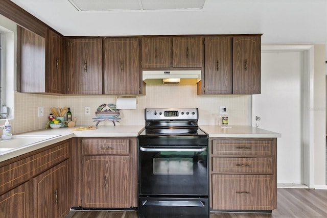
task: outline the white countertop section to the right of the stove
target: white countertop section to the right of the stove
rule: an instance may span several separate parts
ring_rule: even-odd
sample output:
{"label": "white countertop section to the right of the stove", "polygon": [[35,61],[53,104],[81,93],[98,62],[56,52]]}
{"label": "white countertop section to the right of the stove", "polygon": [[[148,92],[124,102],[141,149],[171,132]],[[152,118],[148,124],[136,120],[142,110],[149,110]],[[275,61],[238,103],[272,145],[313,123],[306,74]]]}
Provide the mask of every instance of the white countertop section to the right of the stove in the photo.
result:
{"label": "white countertop section to the right of the stove", "polygon": [[281,134],[251,126],[200,126],[209,134],[209,137],[232,137],[232,138],[279,138]]}

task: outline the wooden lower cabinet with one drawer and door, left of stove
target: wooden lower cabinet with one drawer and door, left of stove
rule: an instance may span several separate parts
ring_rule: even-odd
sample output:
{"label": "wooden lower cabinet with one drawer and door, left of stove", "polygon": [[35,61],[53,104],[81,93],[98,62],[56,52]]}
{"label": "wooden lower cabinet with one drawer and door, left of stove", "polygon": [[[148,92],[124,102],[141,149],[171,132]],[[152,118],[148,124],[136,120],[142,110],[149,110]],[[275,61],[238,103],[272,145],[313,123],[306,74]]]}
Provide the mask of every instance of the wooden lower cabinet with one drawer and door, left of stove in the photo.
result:
{"label": "wooden lower cabinet with one drawer and door, left of stove", "polygon": [[136,137],[82,140],[82,207],[137,207]]}

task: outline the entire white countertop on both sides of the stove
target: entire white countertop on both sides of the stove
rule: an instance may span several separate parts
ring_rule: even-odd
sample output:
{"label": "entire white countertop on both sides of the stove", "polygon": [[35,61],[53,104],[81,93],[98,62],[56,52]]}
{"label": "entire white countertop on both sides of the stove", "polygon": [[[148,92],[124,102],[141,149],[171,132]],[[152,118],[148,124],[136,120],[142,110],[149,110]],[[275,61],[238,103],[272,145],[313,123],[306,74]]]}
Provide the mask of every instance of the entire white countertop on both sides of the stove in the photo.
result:
{"label": "entire white countertop on both sides of the stove", "polygon": [[[96,130],[72,131],[78,127],[42,129],[21,133],[28,136],[55,136],[51,139],[38,141],[26,146],[18,147],[0,154],[0,161],[5,161],[31,151],[35,151],[51,144],[73,138],[73,137],[137,137],[138,132],[143,130],[144,126],[98,126]],[[267,130],[254,128],[250,126],[231,126],[231,128],[221,128],[219,126],[200,126],[200,128],[209,134],[209,137],[242,137],[242,138],[276,138],[281,134]],[[11,139],[9,139],[11,140]],[[8,141],[8,140],[5,140]],[[2,144],[0,142],[0,148]]]}

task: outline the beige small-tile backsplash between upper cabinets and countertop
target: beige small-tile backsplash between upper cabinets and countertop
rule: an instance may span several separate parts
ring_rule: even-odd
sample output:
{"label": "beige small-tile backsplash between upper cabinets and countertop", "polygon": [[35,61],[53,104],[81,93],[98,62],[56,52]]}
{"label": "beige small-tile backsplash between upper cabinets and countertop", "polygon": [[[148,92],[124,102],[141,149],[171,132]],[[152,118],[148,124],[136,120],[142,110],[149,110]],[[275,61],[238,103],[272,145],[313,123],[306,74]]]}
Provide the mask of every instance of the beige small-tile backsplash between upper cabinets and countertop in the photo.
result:
{"label": "beige small-tile backsplash between upper cabinets and countertop", "polygon": [[[199,125],[218,125],[219,106],[225,106],[230,125],[248,125],[250,95],[197,95],[196,84],[161,84],[151,81],[146,85],[146,95],[137,96],[136,109],[121,109],[122,118],[116,125],[144,125],[145,108],[199,108]],[[14,93],[14,120],[10,120],[13,134],[43,129],[52,107],[70,107],[76,125],[95,125],[92,117],[101,104],[115,104],[115,95],[45,95]],[[38,117],[38,107],[44,107],[44,116]],[[91,115],[85,115],[90,107]],[[4,125],[4,121],[0,125]],[[113,125],[101,122],[99,125]]]}

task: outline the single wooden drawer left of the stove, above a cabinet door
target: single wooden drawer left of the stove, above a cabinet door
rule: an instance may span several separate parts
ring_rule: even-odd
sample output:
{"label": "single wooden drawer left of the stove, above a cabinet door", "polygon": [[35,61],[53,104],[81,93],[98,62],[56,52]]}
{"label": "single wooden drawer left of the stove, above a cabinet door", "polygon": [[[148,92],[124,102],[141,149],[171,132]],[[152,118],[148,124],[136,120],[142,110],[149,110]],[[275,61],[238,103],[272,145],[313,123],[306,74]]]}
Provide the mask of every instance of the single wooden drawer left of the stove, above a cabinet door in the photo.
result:
{"label": "single wooden drawer left of the stove, above a cabinet door", "polygon": [[129,139],[83,139],[82,154],[129,154]]}

